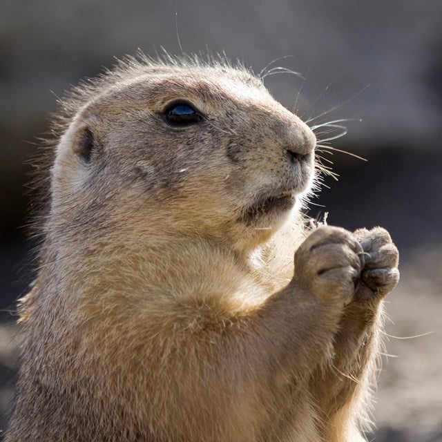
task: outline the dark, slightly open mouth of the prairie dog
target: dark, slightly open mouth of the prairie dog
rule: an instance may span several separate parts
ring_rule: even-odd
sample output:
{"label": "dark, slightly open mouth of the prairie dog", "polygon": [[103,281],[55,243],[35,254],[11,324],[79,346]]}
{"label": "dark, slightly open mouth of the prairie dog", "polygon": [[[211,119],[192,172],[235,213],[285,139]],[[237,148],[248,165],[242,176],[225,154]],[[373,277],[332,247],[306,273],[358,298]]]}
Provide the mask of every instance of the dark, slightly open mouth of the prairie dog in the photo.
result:
{"label": "dark, slightly open mouth of the prairie dog", "polygon": [[260,198],[251,206],[247,207],[242,216],[242,220],[251,222],[272,215],[274,217],[290,211],[296,202],[296,193],[294,191],[283,191],[277,195],[267,195]]}

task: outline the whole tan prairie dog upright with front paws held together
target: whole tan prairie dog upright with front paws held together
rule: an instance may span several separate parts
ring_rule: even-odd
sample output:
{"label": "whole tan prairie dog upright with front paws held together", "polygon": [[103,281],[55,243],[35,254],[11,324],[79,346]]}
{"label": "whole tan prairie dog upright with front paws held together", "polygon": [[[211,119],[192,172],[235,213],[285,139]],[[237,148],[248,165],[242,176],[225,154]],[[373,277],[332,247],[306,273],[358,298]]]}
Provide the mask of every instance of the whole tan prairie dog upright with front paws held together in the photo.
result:
{"label": "whole tan prairie dog upright with front paws held together", "polygon": [[6,441],[363,440],[398,251],[304,227],[316,137],[262,77],[128,57],[53,133]]}

